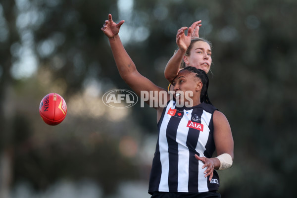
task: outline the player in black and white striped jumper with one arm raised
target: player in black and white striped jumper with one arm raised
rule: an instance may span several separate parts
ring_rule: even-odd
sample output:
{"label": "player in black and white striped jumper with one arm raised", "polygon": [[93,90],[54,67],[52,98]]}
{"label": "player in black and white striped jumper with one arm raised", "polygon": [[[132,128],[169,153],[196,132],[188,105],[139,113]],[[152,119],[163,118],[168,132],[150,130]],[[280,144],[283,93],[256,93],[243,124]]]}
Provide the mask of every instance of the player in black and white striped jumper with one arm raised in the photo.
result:
{"label": "player in black and white striped jumper with one arm raised", "polygon": [[[136,69],[118,35],[124,20],[112,21],[111,14],[101,30],[108,37],[121,78],[139,96],[142,91],[163,92]],[[178,107],[186,98],[163,97],[166,107],[157,110],[158,140],[149,179],[151,198],[220,198],[216,170],[233,163],[233,138],[225,115],[207,103],[208,78],[203,70],[187,67],[172,81],[175,92],[191,91],[191,106]],[[156,98],[153,98],[156,99]],[[160,99],[159,99],[160,100]],[[189,101],[188,101],[189,102]],[[149,103],[149,99],[147,101]],[[156,102],[159,104],[159,102]],[[217,157],[212,157],[216,150]]]}

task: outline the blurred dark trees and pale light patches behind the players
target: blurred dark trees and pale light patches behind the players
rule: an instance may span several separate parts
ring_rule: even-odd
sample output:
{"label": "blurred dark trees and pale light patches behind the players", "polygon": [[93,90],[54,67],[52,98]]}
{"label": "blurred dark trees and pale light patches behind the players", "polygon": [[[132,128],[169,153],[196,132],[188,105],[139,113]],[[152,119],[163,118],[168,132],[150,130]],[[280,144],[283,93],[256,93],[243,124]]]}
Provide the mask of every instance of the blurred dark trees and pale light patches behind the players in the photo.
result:
{"label": "blurred dark trees and pale light patches behind the players", "polygon": [[[292,197],[297,173],[297,1],[1,0],[0,197],[149,198],[156,112],[111,109],[129,89],[100,28],[112,13],[138,70],[160,87],[177,30],[202,20],[213,44],[209,97],[228,118],[232,168],[224,198]],[[48,93],[67,102],[48,126]],[[130,193],[130,194],[129,194]]]}

